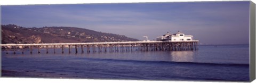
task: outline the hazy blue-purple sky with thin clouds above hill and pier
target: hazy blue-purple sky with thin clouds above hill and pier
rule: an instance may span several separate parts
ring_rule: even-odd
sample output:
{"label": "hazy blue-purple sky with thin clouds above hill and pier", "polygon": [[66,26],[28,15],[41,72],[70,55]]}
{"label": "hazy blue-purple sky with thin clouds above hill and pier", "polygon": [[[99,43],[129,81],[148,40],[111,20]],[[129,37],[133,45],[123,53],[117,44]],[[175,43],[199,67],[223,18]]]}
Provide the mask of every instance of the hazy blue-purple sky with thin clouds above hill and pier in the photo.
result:
{"label": "hazy blue-purple sky with thin clouds above hill and pier", "polygon": [[1,24],[64,26],[150,40],[181,31],[201,44],[249,44],[249,1],[1,5]]}

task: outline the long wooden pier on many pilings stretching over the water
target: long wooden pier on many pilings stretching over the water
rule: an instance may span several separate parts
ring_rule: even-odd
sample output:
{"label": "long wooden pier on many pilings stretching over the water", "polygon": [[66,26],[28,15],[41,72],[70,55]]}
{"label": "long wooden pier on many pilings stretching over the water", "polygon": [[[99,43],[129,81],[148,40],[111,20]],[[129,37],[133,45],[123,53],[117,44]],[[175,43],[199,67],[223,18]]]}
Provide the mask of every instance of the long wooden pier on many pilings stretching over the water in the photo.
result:
{"label": "long wooden pier on many pilings stretching over the water", "polygon": [[[196,51],[198,49],[198,40],[190,41],[123,41],[123,42],[103,42],[103,43],[51,43],[51,44],[1,44],[2,51],[13,51],[19,49],[22,54],[26,48],[37,50],[41,53],[41,49],[46,49],[46,54],[49,53],[49,48],[61,48],[61,53],[64,48],[68,48],[68,53],[71,53],[71,48],[75,48],[75,53],[78,53],[78,48],[81,48],[81,53],[86,52],[127,52],[127,51]],[[6,52],[8,54],[8,52]]]}

